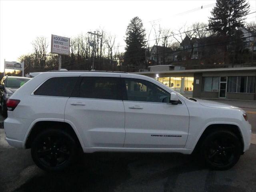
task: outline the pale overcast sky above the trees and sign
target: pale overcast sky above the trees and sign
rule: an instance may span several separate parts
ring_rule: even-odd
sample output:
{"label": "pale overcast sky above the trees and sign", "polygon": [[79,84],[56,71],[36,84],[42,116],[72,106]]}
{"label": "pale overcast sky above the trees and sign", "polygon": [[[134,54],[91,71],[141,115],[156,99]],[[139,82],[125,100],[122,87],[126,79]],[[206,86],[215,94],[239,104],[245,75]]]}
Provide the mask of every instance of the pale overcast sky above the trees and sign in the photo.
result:
{"label": "pale overcast sky above the trees and sign", "polygon": [[[116,42],[124,45],[126,27],[134,16],[142,19],[147,32],[152,24],[177,30],[185,23],[190,25],[194,22],[208,22],[215,2],[0,0],[0,71],[3,71],[4,59],[17,61],[22,54],[31,53],[31,42],[36,36],[48,38],[50,52],[51,34],[72,38],[81,33],[104,28],[106,32],[116,35]],[[254,12],[256,1],[249,2],[250,11]],[[201,6],[203,9],[196,9]],[[255,16],[256,14],[248,15],[246,21],[255,21]]]}

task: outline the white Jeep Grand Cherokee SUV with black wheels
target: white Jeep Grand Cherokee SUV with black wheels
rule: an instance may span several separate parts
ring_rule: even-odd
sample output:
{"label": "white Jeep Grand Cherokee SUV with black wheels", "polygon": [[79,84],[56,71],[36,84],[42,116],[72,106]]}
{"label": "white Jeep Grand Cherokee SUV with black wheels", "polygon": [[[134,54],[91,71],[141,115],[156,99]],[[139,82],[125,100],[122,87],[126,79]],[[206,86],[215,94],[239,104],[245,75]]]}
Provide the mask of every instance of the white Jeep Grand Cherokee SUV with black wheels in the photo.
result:
{"label": "white Jeep Grand Cherokee SUV with black wheels", "polygon": [[6,140],[31,148],[48,171],[85,153],[198,151],[214,169],[249,149],[251,125],[240,108],[185,98],[147,76],[122,72],[43,72],[7,101]]}

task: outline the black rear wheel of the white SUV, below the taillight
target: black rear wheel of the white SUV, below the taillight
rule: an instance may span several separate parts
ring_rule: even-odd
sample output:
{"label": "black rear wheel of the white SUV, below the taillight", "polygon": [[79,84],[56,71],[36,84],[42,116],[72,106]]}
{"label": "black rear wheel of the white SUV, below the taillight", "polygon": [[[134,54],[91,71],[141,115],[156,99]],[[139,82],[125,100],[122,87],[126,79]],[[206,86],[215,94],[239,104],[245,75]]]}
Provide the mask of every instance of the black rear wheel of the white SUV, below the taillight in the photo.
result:
{"label": "black rear wheel of the white SUV, below the taillight", "polygon": [[50,128],[40,132],[31,145],[35,164],[48,172],[62,171],[76,159],[75,139],[67,132]]}

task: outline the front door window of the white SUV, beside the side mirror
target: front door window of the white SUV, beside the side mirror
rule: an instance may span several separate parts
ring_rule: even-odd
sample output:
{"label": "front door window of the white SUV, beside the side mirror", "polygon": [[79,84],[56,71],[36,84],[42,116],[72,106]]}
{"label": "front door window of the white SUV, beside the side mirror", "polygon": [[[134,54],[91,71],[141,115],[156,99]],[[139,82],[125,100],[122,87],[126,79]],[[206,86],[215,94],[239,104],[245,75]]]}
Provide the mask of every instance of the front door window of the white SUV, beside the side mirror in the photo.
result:
{"label": "front door window of the white SUV, beside the side mirror", "polygon": [[133,78],[124,78],[124,82],[124,100],[159,103],[170,102],[170,93],[152,82]]}

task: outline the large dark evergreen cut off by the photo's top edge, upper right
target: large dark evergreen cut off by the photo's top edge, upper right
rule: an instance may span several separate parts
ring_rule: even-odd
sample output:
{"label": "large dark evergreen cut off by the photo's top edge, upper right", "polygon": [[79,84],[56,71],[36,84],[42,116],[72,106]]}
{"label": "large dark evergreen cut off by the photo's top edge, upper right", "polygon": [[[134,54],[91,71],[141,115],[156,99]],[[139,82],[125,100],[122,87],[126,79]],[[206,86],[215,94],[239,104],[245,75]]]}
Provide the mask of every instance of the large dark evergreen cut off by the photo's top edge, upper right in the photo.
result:
{"label": "large dark evergreen cut off by the photo's top edge, upper right", "polygon": [[232,35],[236,28],[244,26],[249,7],[246,0],[216,0],[209,18],[210,30],[219,35]]}

